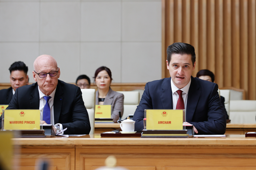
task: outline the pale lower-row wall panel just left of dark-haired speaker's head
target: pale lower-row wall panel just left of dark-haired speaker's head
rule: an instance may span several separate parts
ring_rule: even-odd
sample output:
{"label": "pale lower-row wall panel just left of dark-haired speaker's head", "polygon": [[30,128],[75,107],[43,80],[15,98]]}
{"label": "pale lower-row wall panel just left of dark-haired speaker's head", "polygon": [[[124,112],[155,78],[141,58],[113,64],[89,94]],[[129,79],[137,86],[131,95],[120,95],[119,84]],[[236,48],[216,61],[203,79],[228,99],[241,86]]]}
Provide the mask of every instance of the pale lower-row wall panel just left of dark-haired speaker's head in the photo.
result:
{"label": "pale lower-row wall panel just left of dark-haired speaker's head", "polygon": [[161,42],[122,44],[122,82],[161,79]]}

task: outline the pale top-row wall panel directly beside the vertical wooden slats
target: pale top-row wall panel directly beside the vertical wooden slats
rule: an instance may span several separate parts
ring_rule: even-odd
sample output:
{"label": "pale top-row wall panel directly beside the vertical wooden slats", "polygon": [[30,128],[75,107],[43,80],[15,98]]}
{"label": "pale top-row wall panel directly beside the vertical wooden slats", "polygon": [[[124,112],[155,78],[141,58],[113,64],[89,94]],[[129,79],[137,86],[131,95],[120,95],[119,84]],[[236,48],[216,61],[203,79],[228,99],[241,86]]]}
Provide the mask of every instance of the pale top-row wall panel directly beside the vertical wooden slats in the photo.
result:
{"label": "pale top-row wall panel directly beside the vertical wooden slats", "polygon": [[122,4],[123,41],[161,41],[161,1]]}

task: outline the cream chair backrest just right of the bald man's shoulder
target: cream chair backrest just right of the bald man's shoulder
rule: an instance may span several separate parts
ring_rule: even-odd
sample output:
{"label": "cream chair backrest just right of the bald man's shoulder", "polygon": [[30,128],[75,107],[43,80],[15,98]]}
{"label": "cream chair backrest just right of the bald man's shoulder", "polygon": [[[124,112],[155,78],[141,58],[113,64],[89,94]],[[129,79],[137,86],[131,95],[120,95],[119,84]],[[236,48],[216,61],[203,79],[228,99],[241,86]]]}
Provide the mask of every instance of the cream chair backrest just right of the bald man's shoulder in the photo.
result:
{"label": "cream chair backrest just right of the bald man's shoulder", "polygon": [[95,89],[81,89],[83,101],[89,115],[91,124],[90,135],[94,134],[94,120],[95,120]]}

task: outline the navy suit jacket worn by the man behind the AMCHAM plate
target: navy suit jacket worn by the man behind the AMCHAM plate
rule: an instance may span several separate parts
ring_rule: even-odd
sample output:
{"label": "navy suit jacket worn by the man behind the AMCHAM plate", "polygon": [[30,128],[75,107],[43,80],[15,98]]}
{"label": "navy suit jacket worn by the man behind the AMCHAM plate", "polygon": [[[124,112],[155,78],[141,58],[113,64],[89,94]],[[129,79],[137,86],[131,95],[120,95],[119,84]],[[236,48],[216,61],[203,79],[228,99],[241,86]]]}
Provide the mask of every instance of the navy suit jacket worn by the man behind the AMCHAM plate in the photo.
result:
{"label": "navy suit jacket worn by the man behind the AMCHAM plate", "polygon": [[[171,78],[148,82],[134,113],[135,131],[143,129],[144,109],[173,109]],[[218,85],[191,76],[186,121],[198,134],[224,134],[226,116],[218,94]]]}

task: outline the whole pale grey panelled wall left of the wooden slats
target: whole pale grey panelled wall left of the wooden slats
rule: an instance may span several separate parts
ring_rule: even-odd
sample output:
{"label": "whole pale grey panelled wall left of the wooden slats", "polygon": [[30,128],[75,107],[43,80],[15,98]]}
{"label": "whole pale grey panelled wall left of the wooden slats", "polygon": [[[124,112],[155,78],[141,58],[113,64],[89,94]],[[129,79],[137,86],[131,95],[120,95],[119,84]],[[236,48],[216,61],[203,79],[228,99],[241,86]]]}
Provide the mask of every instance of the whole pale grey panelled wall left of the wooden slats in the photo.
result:
{"label": "whole pale grey panelled wall left of the wooden slats", "polygon": [[15,61],[53,56],[60,79],[91,81],[107,66],[112,82],[161,79],[161,0],[0,0],[0,83]]}

